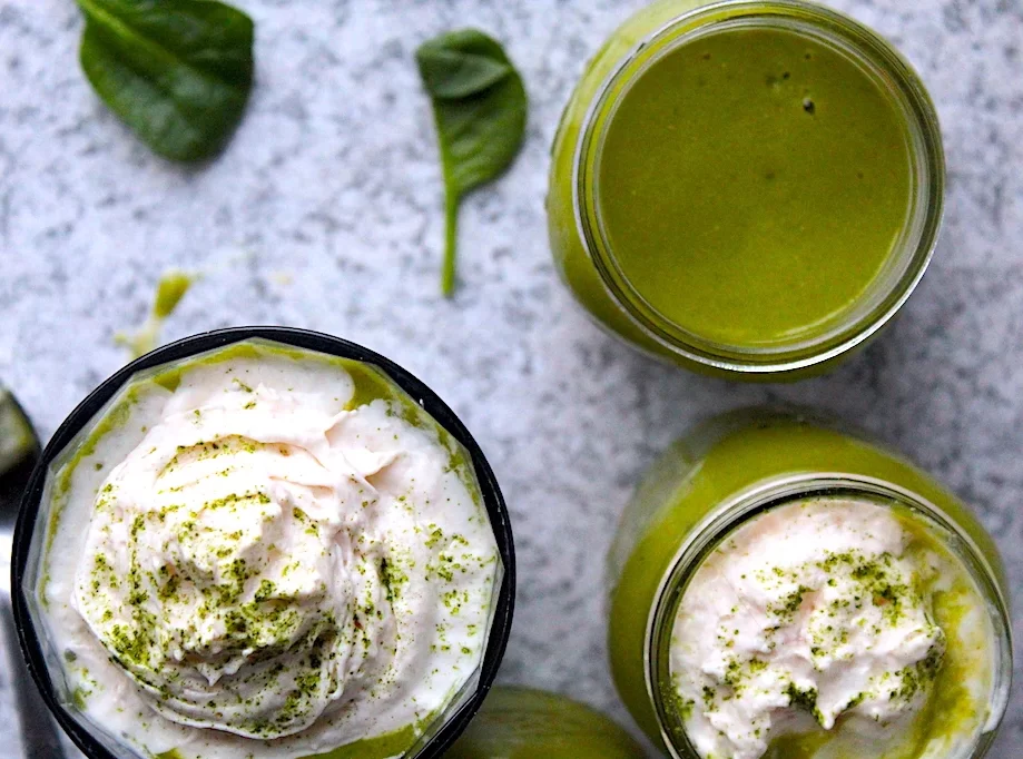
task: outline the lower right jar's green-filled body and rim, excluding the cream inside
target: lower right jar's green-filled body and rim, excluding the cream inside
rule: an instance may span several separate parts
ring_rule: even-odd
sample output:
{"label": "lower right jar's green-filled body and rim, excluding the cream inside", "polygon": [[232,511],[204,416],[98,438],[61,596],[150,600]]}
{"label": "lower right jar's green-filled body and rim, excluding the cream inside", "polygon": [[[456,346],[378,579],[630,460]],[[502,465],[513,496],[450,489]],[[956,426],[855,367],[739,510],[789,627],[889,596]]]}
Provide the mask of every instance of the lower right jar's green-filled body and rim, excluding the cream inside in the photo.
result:
{"label": "lower right jar's green-filled body and rim, excluding the cream inside", "polygon": [[[946,759],[986,751],[1012,677],[1009,586],[991,536],[942,485],[865,437],[801,413],[744,410],[698,426],[650,467],[622,515],[609,558],[614,682],[643,731],[672,757],[699,757],[673,706],[667,655],[687,583],[739,525],[768,509],[832,495],[912,513],[942,538],[972,579],[993,630],[987,717],[970,736],[970,750]],[[766,756],[815,755],[789,749]],[[858,756],[873,755],[860,750]]]}

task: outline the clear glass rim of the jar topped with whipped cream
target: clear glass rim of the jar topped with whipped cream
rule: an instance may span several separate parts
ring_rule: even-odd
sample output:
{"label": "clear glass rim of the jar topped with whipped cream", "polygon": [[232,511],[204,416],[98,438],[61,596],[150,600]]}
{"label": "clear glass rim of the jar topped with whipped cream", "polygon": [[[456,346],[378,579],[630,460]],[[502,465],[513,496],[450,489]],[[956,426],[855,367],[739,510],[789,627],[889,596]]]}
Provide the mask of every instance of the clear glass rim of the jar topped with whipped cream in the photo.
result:
{"label": "clear glass rim of the jar topped with whipped cream", "polygon": [[[850,494],[894,502],[936,525],[954,542],[953,554],[963,561],[988,607],[995,637],[995,662],[987,721],[958,759],[983,757],[994,741],[1005,712],[1013,678],[1013,629],[1006,589],[999,573],[973,538],[941,506],[929,499],[895,483],[863,474],[845,472],[807,473],[761,481],[719,504],[689,532],[665,571],[655,594],[643,637],[643,662],[647,696],[657,717],[661,741],[672,759],[699,759],[686,736],[681,721],[670,711],[666,686],[670,683],[667,643],[670,642],[677,607],[685,589],[704,560],[736,529],[766,511],[807,497]],[[951,759],[951,758],[950,758]]]}

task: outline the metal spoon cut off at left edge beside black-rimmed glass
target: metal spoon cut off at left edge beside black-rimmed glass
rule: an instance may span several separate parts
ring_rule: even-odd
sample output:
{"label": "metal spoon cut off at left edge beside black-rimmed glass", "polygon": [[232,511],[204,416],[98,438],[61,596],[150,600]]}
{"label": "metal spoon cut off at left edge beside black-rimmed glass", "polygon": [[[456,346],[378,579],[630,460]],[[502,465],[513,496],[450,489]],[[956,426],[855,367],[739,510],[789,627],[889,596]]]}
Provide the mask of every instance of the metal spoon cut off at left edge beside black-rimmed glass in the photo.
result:
{"label": "metal spoon cut off at left edge beside black-rimmed glass", "polygon": [[18,504],[39,459],[39,438],[14,401],[0,387],[0,638],[7,642],[11,690],[21,722],[21,752],[32,759],[63,759],[60,737],[50,719],[21,650],[11,610],[11,548]]}

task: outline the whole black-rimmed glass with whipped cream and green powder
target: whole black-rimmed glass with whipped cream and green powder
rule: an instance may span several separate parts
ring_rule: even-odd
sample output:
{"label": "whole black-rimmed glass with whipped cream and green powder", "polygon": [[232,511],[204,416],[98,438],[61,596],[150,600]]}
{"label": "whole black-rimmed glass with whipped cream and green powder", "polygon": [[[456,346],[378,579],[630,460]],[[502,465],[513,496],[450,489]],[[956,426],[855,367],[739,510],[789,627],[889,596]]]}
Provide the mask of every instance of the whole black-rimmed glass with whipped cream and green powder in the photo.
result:
{"label": "whole black-rimmed glass with whipped cream and green powder", "polygon": [[[368,421],[360,423],[363,414]],[[217,426],[229,418],[242,420],[243,432]],[[316,426],[321,418],[327,426]],[[168,420],[184,426],[169,427]],[[299,426],[283,430],[292,422]],[[345,433],[353,423],[362,426]],[[175,447],[180,441],[168,437],[174,430],[190,437]],[[347,436],[336,437],[342,434]],[[388,445],[400,452],[385,455]],[[157,456],[165,448],[173,459],[153,470],[159,472],[154,484],[125,490],[127,481],[118,480],[118,473],[129,464],[139,471],[137,456]],[[292,480],[285,483],[282,467],[291,462],[297,469],[287,470]],[[397,462],[397,469],[386,462]],[[327,469],[328,463],[334,469]],[[414,489],[421,473],[429,474],[427,490]],[[181,479],[171,485],[165,479],[169,476]],[[235,477],[240,480],[233,482]],[[409,482],[412,485],[403,490]],[[111,490],[115,483],[120,490]],[[345,493],[356,489],[355,500],[340,495],[336,502],[329,500],[329,489],[341,486],[348,487]],[[194,487],[200,487],[196,496],[189,495]],[[220,492],[225,489],[227,495]],[[154,504],[161,494],[175,502],[157,510]],[[135,502],[125,500],[128,496],[142,499],[138,515],[128,520],[130,530],[114,518],[97,526],[100,506],[104,514],[115,516],[118,509],[134,509]],[[107,500],[112,497],[119,500]],[[91,504],[90,512],[83,511],[85,503]],[[117,504],[112,512],[110,503]],[[331,505],[335,503],[337,509]],[[426,520],[430,524],[402,528],[412,519],[403,514],[413,514],[424,503],[435,504]],[[449,529],[444,514],[435,511],[442,504],[449,513],[464,512],[459,519],[468,521],[456,522],[456,531]],[[366,519],[375,521],[362,520],[361,514],[373,512],[378,515]],[[174,520],[179,515],[186,521],[177,525]],[[279,521],[283,515],[287,523]],[[169,528],[166,539],[146,538],[153,531],[163,535],[164,526],[171,524],[177,526]],[[345,525],[351,531],[343,533],[342,528],[348,530]],[[392,533],[409,538],[407,544],[395,545]],[[114,541],[120,549],[106,553],[87,534]],[[91,552],[96,545],[105,552],[102,562],[99,549]],[[417,553],[421,548],[424,551]],[[101,571],[118,556],[129,555],[127,571]],[[83,575],[86,561],[92,563]],[[422,576],[416,574],[420,569]],[[270,573],[272,579],[260,581]],[[323,579],[318,584],[317,578]],[[464,581],[460,578],[479,580],[460,585]],[[482,451],[451,408],[416,377],[372,351],[286,327],[237,327],[185,338],[142,356],[100,384],[61,424],[36,467],[18,520],[12,579],[20,642],[30,670],[60,726],[90,759],[441,756],[476,713],[496,676],[514,605],[506,507]],[[196,603],[188,605],[189,594],[198,593],[189,589],[203,579],[209,588],[204,586]],[[327,617],[314,617],[312,627],[293,633],[302,622],[296,615],[302,604],[319,603],[317,599],[327,598],[328,583],[334,582],[344,584],[337,585],[341,600],[329,595],[322,601],[333,604],[324,612]],[[414,605],[416,599],[433,598],[427,589],[431,582],[440,589],[435,602]],[[101,617],[90,614],[89,585],[98,592],[104,583],[131,593],[124,602],[111,600],[107,612],[100,609]],[[357,593],[348,593],[350,588]],[[185,604],[174,608],[185,608],[186,614],[170,617],[170,604]],[[224,609],[228,611],[220,614]],[[120,630],[112,628],[110,643],[100,637],[106,635],[102,625],[108,613],[117,614],[118,624],[125,614],[126,620],[137,615],[148,628],[129,633],[126,621]],[[399,614],[405,621],[397,621]],[[423,627],[412,624],[416,614],[425,618]],[[164,630],[170,624],[160,621],[165,617],[178,621]],[[147,630],[156,625],[170,642],[153,654],[151,641],[163,638]],[[189,633],[186,643],[179,633],[189,625],[197,632]],[[388,632],[392,629],[397,637]],[[376,631],[373,637],[371,630]],[[400,650],[402,633],[405,638],[414,633],[407,645],[420,648]],[[298,638],[291,641],[292,634]],[[326,641],[325,648],[319,648],[321,640]],[[238,641],[248,641],[244,650]],[[242,731],[259,729],[269,719],[264,712],[256,712],[252,727],[222,719],[233,713],[232,708],[265,703],[264,691],[273,689],[287,696],[275,713],[291,718],[302,707],[303,694],[319,682],[303,669],[297,670],[301,677],[291,676],[295,662],[315,674],[327,657],[335,655],[332,647],[341,645],[338,641],[351,641],[347,653],[337,654],[348,662],[338,676],[342,686],[347,684],[340,691],[344,701],[337,701],[344,709],[356,697],[365,697],[372,709],[374,702],[384,702],[388,691],[382,689],[388,687],[399,689],[395,698],[402,703],[410,696],[423,703],[420,697],[427,696],[431,706],[415,706],[419,713],[406,721],[407,710],[396,709],[393,699],[381,719],[371,712],[329,711],[328,704],[298,732],[265,739]],[[177,653],[174,647],[179,647]],[[364,660],[361,651],[367,652]],[[210,688],[229,681],[230,688],[254,682],[264,690],[252,691],[244,702],[243,690],[237,701],[230,690],[208,698],[200,692],[195,697],[198,706],[188,702],[190,711],[185,712],[181,704],[191,696],[179,694],[175,683],[191,683],[194,676],[174,670],[166,682],[155,681],[154,673],[161,672],[149,663],[154,655],[165,670],[198,661],[194,666],[208,672]],[[415,661],[423,657],[436,663],[421,674]],[[458,661],[452,663],[451,657]],[[367,682],[355,669],[356,661],[363,661],[360,667],[371,673],[378,669],[376,661],[393,672],[388,669]],[[236,671],[242,680],[230,680]],[[401,690],[436,677],[444,680],[429,686],[429,691]],[[362,686],[365,692],[360,692]],[[301,690],[305,688],[309,690]],[[190,717],[206,703],[218,709],[213,718],[225,727],[197,723]],[[178,710],[174,719],[165,717],[171,706]],[[344,718],[340,722],[338,714]],[[344,727],[348,718],[371,727],[351,739],[353,731]],[[158,719],[163,721],[157,723]]]}

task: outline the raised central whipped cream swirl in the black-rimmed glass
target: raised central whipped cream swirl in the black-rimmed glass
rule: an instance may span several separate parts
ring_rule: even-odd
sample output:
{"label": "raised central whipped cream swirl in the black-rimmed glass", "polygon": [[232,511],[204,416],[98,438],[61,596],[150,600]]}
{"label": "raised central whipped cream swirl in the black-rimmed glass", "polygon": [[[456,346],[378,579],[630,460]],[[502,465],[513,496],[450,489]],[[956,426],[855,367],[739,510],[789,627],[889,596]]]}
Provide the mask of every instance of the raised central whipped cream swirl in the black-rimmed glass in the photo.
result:
{"label": "raised central whipped cream swirl in the black-rimmed glass", "polygon": [[401,454],[351,445],[358,413],[237,388],[100,489],[75,601],[164,717],[276,738],[385,678],[396,562],[370,480]]}

